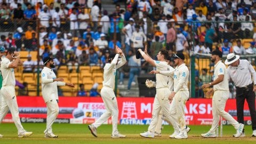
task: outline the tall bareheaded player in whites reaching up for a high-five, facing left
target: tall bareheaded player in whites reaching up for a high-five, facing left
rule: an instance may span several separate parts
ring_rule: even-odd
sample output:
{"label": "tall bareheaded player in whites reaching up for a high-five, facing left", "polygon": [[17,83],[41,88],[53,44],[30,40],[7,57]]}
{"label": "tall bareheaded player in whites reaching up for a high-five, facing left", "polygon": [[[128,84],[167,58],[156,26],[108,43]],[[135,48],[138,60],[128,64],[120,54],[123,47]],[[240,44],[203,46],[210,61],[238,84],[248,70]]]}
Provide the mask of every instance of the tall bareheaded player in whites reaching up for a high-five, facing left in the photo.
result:
{"label": "tall bareheaded player in whites reaching up for a high-five, facing left", "polygon": [[[145,46],[145,52],[147,51],[147,45]],[[143,52],[141,49],[138,50],[142,57],[149,62],[152,66],[156,67],[156,70],[163,70],[167,71],[169,70],[168,63],[166,62],[166,59],[168,57],[168,52],[166,50],[161,50],[157,54],[157,60],[155,61],[152,58],[150,58],[145,52]],[[170,113],[170,101],[168,100],[169,95],[171,94],[171,91],[169,90],[168,86],[168,77],[164,75],[156,75],[156,97],[154,99],[153,103],[153,112],[152,112],[152,119],[150,122],[150,125],[148,127],[148,131],[145,133],[140,133],[141,137],[145,138],[154,138],[154,132],[157,125],[159,112],[163,111],[163,116],[166,117],[165,121],[169,124],[172,124],[175,131],[179,131],[179,126],[174,120],[175,117],[171,115]]]}

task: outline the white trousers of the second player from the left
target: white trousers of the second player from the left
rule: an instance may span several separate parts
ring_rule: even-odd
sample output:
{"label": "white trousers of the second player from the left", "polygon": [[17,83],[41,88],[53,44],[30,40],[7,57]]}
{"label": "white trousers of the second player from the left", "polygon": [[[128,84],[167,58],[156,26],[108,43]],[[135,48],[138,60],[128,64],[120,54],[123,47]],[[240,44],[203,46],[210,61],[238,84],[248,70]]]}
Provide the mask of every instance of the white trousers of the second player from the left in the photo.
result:
{"label": "white trousers of the second player from the left", "polygon": [[47,118],[46,118],[46,130],[44,132],[52,133],[52,124],[59,114],[59,106],[57,100],[53,99],[46,102]]}

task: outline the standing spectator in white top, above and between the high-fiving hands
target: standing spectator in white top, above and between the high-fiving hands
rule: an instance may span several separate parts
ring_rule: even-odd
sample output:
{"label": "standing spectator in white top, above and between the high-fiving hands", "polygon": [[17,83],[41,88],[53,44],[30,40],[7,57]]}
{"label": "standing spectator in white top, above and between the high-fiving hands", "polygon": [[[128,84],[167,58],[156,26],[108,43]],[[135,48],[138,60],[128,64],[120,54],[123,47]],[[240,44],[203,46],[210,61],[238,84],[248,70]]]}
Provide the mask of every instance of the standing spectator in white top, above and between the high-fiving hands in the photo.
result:
{"label": "standing spectator in white top, above and between the high-fiving hands", "polygon": [[[131,38],[133,31],[133,23],[134,20],[132,18],[129,19],[129,23],[122,29],[122,32],[125,34],[125,52],[126,54],[129,52],[131,47]],[[114,49],[114,47],[113,47]]]}

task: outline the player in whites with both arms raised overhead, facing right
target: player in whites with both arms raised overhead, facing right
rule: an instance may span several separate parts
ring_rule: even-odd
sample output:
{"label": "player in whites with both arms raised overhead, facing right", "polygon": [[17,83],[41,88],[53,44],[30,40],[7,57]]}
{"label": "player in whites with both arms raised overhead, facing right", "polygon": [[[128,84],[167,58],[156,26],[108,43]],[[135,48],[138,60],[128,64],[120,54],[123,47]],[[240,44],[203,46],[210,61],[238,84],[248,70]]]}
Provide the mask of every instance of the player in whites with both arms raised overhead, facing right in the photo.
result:
{"label": "player in whites with both arms raised overhead, facing right", "polygon": [[[121,62],[118,62],[118,57],[121,57]],[[101,98],[104,102],[104,105],[106,107],[106,112],[103,113],[99,119],[97,119],[96,122],[89,125],[88,128],[91,131],[92,135],[94,137],[97,136],[97,128],[103,124],[105,121],[108,120],[108,118],[111,116],[112,119],[112,125],[113,130],[111,134],[111,138],[125,138],[126,136],[123,134],[120,134],[117,130],[117,124],[118,124],[118,106],[117,106],[117,100],[115,93],[113,91],[115,87],[115,75],[116,75],[116,69],[122,67],[126,63],[126,59],[124,56],[123,51],[116,46],[116,54],[111,54],[108,57],[108,62],[106,63],[104,67],[104,73],[103,73],[103,79],[102,82],[103,87],[100,91]]]}

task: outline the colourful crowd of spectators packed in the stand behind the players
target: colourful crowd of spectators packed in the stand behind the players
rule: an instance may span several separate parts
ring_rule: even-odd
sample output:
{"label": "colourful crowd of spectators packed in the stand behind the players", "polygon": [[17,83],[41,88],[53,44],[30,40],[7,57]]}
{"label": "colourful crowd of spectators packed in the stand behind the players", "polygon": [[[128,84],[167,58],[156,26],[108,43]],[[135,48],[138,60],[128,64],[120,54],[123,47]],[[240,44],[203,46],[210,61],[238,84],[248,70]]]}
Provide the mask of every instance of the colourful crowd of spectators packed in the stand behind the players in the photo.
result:
{"label": "colourful crowd of spectators packed in the stand behind the players", "polygon": [[[162,48],[170,56],[173,52],[209,53],[213,47],[223,54],[255,54],[255,42],[248,49],[241,43],[248,38],[256,41],[255,20],[255,0],[127,0],[125,9],[116,4],[113,13],[93,0],[0,0],[1,30],[15,28],[14,33],[1,35],[0,46],[39,49],[42,58],[53,55],[58,65],[71,69],[103,67],[116,44],[131,59],[127,66],[139,67],[132,76],[131,69],[121,69],[122,84],[125,75],[134,77],[147,68],[144,61],[132,61],[145,44],[153,58]],[[133,81],[129,80],[130,86]]]}

